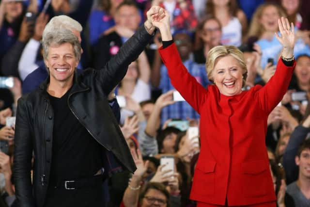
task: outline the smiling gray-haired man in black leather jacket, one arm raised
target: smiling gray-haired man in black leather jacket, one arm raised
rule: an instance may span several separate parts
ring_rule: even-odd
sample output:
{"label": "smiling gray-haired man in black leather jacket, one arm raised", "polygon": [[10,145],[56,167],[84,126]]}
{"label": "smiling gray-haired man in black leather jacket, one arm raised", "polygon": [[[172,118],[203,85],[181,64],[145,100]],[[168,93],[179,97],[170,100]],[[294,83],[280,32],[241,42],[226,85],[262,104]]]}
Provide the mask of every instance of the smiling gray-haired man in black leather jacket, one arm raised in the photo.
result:
{"label": "smiling gray-haired man in black leather jacket, one arm raised", "polygon": [[103,180],[123,169],[135,172],[108,95],[152,38],[152,15],[160,18],[163,9],[152,7],[148,20],[102,70],[80,74],[82,50],[74,31],[44,32],[49,76],[17,106],[14,177],[20,207],[104,206]]}

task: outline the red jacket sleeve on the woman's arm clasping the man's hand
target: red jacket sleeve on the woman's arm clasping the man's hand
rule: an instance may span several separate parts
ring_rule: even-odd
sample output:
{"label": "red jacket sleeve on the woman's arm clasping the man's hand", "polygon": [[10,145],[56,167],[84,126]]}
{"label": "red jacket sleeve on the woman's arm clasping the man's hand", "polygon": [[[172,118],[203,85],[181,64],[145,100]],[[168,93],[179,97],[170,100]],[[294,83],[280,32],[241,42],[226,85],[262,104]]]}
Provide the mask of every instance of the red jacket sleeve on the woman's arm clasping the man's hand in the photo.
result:
{"label": "red jacket sleeve on the woman's arm clasping the man's hand", "polygon": [[207,90],[188,73],[174,43],[167,48],[159,48],[159,54],[168,69],[171,84],[200,114]]}

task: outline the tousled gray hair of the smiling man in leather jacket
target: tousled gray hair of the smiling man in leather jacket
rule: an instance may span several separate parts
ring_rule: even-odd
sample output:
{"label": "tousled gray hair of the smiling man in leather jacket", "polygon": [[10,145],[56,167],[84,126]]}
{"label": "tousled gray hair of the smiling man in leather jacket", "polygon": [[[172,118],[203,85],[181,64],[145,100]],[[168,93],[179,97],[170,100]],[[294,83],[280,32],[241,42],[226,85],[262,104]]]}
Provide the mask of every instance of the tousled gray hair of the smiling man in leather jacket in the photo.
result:
{"label": "tousled gray hair of the smiling man in leather jacket", "polygon": [[50,46],[60,46],[64,43],[70,43],[72,45],[74,55],[77,61],[79,61],[81,59],[81,44],[78,41],[78,37],[71,30],[64,28],[45,34],[45,38],[42,40],[44,59],[47,60]]}

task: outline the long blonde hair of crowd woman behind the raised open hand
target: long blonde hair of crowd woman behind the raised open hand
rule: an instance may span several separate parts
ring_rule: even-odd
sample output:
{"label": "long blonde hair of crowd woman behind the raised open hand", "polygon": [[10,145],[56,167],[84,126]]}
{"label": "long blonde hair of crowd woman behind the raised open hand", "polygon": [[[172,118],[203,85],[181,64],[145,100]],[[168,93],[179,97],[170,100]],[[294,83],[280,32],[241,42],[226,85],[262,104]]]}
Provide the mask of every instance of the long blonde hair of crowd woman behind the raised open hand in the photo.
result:
{"label": "long blonde hair of crowd woman behind the raised open hand", "polygon": [[260,23],[260,19],[262,18],[263,15],[263,11],[265,10],[265,8],[269,7],[269,6],[273,6],[278,10],[279,16],[286,16],[283,9],[281,9],[281,7],[278,4],[275,3],[263,3],[262,5],[260,5],[251,20],[250,23],[250,28],[248,30],[248,37],[251,36],[255,36],[258,39],[260,39],[261,35],[263,34],[263,32],[265,32],[263,25]]}

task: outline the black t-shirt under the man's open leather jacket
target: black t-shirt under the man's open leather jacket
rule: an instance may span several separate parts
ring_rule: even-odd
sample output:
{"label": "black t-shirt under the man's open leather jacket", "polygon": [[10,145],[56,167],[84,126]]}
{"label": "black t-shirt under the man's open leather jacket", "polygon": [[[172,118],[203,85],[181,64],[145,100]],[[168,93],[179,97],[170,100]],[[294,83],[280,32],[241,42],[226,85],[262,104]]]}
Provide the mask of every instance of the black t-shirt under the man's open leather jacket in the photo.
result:
{"label": "black t-shirt under the man's open leather jacket", "polygon": [[54,110],[50,184],[93,176],[103,166],[102,146],[69,109],[69,93],[61,98],[49,95]]}

